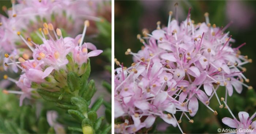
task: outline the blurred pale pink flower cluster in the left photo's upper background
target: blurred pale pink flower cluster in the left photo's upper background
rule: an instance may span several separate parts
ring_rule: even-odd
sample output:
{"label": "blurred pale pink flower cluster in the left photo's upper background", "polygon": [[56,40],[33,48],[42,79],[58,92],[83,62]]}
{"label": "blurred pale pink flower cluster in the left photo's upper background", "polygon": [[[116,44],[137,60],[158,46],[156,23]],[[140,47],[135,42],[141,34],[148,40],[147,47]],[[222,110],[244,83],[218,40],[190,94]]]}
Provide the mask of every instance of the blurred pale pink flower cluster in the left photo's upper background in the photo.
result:
{"label": "blurred pale pink flower cluster in the left photo's upper background", "polygon": [[[75,37],[78,31],[81,31],[85,19],[102,20],[95,16],[98,16],[98,6],[102,8],[105,6],[102,4],[103,1],[86,0],[34,0],[17,1],[17,3],[12,0],[11,2],[11,9],[3,6],[8,18],[0,15],[0,54],[12,53],[13,60],[17,60],[15,57],[23,54],[26,55],[25,57],[31,57],[26,44],[16,35],[18,31],[22,31],[22,35],[25,37],[31,37],[35,43],[41,44],[41,39],[38,36],[42,36],[37,28],[44,22],[51,22],[54,27],[59,27],[71,37]],[[97,30],[94,28],[93,31]],[[2,59],[0,62],[3,62]],[[12,70],[17,72],[18,69],[13,66]]]}

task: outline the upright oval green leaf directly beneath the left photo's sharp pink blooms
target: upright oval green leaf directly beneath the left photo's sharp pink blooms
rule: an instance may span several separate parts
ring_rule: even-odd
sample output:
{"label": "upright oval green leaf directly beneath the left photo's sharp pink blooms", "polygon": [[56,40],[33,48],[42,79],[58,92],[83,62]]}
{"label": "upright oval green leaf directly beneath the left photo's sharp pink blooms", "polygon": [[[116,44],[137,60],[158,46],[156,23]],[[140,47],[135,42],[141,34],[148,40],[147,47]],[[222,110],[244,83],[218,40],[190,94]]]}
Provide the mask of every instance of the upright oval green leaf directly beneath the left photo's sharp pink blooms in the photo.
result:
{"label": "upright oval green leaf directly beneath the left photo's sharp pink blooms", "polygon": [[67,84],[68,84],[68,88],[70,89],[71,92],[80,90],[81,79],[76,73],[70,72],[70,73],[68,73]]}

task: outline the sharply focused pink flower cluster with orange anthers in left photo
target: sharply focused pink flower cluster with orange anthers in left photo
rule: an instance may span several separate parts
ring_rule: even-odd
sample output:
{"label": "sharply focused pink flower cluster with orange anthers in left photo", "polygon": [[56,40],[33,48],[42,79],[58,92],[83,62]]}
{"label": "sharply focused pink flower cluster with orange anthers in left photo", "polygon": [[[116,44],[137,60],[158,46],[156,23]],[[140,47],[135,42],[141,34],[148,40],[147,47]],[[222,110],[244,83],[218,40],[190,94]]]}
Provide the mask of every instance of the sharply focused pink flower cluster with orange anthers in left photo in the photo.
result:
{"label": "sharply focused pink flower cluster with orange anthers in left photo", "polygon": [[[18,36],[33,52],[33,59],[26,58],[25,60],[23,56],[18,57],[18,62],[15,62],[15,57],[12,54],[4,54],[5,61],[11,61],[10,63],[4,63],[5,66],[15,65],[23,72],[18,81],[9,78],[7,75],[4,76],[4,79],[15,82],[22,91],[8,90],[5,92],[21,94],[20,105],[22,105],[25,97],[31,97],[31,94],[36,93],[31,92],[35,89],[40,88],[54,92],[65,88],[68,72],[72,71],[78,76],[84,74],[88,58],[102,53],[102,50],[97,50],[92,43],[82,44],[88,26],[89,21],[86,20],[82,35],[78,35],[76,38],[63,38],[59,28],[54,31],[51,23],[44,23],[44,28],[40,29],[42,35],[39,36],[43,42],[41,45],[33,42],[31,38],[25,40],[21,32],[18,31]],[[50,32],[55,37],[52,37]],[[88,49],[92,51],[88,52]]]}

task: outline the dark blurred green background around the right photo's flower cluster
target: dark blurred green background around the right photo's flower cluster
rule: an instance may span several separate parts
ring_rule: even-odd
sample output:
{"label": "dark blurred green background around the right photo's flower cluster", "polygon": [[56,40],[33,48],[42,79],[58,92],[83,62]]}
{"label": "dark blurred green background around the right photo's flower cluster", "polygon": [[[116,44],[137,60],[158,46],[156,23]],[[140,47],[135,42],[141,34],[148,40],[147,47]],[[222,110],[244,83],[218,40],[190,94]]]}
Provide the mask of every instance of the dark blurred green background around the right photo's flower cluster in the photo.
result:
{"label": "dark blurred green background around the right photo's flower cluster", "polygon": [[[150,32],[156,29],[157,21],[161,21],[161,25],[167,25],[169,11],[174,12],[174,4],[178,3],[178,20],[185,20],[189,7],[191,10],[191,18],[195,23],[204,22],[204,13],[208,12],[210,23],[216,24],[218,27],[226,26],[231,20],[233,24],[226,30],[236,40],[233,47],[239,46],[246,42],[240,50],[243,55],[248,55],[253,61],[256,60],[256,1],[115,1],[114,2],[114,55],[124,66],[130,66],[132,55],[125,55],[125,51],[130,48],[137,53],[141,49],[142,43],[136,38],[137,34],[142,34],[142,29],[147,28]],[[117,66],[115,65],[115,68]],[[244,67],[247,71],[245,76],[250,79],[248,85],[256,87],[256,71],[255,62],[246,64]],[[225,89],[218,89],[218,94],[225,95]],[[222,96],[220,96],[222,97]],[[225,116],[231,117],[227,109],[220,109],[217,99],[214,96],[210,106],[218,112],[218,116],[214,116],[202,103],[199,105],[199,111],[192,118],[194,123],[191,124],[183,117],[181,128],[184,133],[218,133],[218,128],[228,128],[221,119]],[[233,114],[238,116],[239,111],[247,111],[252,115],[256,111],[256,93],[255,89],[248,90],[244,87],[241,94],[236,93],[232,97],[228,97],[229,104]],[[176,118],[180,115],[176,114]],[[166,124],[163,120],[158,119],[157,129],[149,131],[149,133],[180,133],[178,127],[167,127],[166,131],[160,131],[161,127],[165,128]]]}

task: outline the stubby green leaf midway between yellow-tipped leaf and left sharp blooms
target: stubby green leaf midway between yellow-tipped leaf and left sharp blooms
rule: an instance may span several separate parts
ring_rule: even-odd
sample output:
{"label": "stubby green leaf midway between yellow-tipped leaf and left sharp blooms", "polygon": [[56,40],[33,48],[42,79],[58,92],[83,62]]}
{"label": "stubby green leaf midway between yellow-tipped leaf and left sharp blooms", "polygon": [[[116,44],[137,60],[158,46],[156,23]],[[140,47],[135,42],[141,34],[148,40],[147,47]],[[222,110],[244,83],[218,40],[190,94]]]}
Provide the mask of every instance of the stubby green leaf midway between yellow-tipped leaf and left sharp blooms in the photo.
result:
{"label": "stubby green leaf midway between yellow-tipped leaf and left sharp blooms", "polygon": [[72,97],[71,98],[71,103],[73,105],[75,105],[76,107],[78,107],[78,110],[80,112],[82,112],[83,114],[87,113],[88,105],[87,105],[86,100],[84,100],[83,98],[81,98],[81,97]]}

